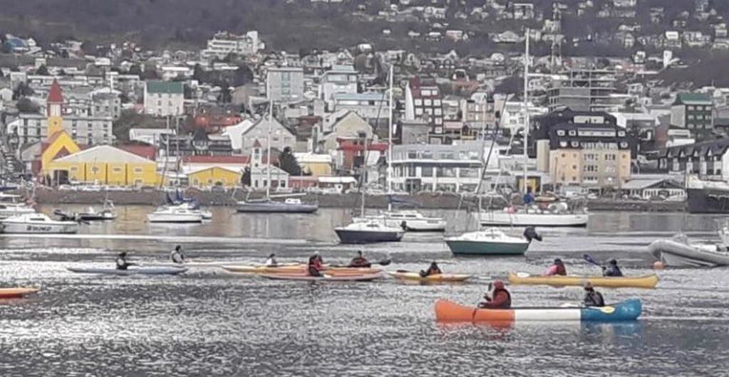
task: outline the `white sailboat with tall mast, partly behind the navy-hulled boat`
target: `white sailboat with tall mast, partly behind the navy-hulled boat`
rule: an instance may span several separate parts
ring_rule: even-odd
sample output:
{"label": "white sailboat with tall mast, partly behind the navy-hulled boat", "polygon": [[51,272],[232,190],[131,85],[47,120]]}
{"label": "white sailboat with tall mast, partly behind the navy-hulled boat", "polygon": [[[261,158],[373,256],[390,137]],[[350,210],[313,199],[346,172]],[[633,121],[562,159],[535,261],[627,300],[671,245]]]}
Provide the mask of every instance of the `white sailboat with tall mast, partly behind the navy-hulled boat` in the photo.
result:
{"label": "white sailboat with tall mast, partly behind the navy-hulled boat", "polygon": [[389,227],[400,227],[405,231],[445,231],[447,225],[443,218],[429,217],[423,215],[417,210],[394,210],[392,208],[393,203],[395,204],[407,204],[412,205],[413,203],[406,202],[402,199],[398,199],[392,194],[392,87],[393,87],[393,66],[390,66],[390,78],[389,78],[389,117],[388,117],[388,130],[389,130],[389,142],[387,146],[387,191],[389,194],[387,202],[387,211],[378,215],[362,215],[353,218],[354,223],[379,223],[382,226]]}

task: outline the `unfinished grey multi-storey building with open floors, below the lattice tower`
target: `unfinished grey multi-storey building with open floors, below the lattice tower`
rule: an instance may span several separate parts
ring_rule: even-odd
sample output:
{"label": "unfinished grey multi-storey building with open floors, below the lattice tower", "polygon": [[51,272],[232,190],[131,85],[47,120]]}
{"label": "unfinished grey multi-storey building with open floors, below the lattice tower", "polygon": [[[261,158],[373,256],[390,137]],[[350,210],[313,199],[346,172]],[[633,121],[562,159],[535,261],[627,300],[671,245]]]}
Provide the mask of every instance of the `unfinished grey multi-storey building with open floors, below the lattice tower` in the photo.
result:
{"label": "unfinished grey multi-storey building with open floors, below the lattice tower", "polygon": [[549,111],[560,107],[574,111],[610,111],[615,108],[615,71],[571,69],[549,90]]}

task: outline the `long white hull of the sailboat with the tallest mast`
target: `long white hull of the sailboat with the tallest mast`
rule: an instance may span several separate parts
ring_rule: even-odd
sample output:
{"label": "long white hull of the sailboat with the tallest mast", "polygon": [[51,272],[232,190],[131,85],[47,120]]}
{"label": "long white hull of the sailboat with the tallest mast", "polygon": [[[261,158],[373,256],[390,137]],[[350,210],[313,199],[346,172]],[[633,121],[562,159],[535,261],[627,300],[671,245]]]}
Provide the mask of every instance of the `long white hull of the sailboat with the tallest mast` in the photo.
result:
{"label": "long white hull of the sailboat with the tallest mast", "polygon": [[585,227],[587,213],[507,213],[489,212],[481,215],[482,226],[541,226],[541,227]]}

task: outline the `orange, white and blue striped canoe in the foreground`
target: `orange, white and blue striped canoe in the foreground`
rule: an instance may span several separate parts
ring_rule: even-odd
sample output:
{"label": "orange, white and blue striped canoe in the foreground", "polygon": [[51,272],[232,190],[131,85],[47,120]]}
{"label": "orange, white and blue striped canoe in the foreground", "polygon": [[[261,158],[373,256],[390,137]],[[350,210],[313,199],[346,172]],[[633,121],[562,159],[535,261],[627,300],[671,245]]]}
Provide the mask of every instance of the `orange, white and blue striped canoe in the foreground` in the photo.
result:
{"label": "orange, white and blue striped canoe in the foreground", "polygon": [[640,317],[643,306],[633,298],[603,307],[526,307],[512,309],[478,309],[451,301],[435,301],[438,322],[512,323],[550,321],[634,321]]}

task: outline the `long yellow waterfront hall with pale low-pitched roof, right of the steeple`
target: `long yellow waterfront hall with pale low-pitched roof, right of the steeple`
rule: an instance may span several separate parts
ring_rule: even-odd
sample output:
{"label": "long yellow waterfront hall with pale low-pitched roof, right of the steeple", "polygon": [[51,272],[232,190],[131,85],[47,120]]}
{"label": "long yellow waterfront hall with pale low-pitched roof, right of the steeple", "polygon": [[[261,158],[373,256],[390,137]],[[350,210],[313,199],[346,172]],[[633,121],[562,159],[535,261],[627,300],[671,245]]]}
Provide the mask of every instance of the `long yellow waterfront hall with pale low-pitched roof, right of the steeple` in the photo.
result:
{"label": "long yellow waterfront hall with pale low-pitched roof, right of the steeple", "polygon": [[58,181],[109,186],[156,186],[159,182],[154,161],[113,146],[95,146],[54,159],[44,165],[44,172]]}

